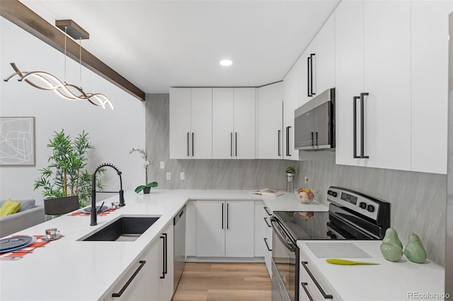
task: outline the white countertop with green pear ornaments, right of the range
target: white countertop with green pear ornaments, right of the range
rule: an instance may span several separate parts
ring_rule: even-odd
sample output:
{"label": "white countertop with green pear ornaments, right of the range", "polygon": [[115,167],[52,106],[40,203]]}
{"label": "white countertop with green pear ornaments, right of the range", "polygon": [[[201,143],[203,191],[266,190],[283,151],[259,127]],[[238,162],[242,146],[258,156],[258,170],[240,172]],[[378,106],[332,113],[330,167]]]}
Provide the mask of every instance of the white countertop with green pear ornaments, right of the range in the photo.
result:
{"label": "white countertop with green pear ornaments, right of the range", "polygon": [[[341,266],[326,262],[326,257],[318,258],[307,244],[326,244],[335,254],[338,244],[354,244],[371,257],[346,258],[352,261],[380,263],[376,266]],[[403,300],[444,300],[445,268],[430,260],[413,263],[403,255],[400,261],[386,261],[379,250],[381,241],[299,241],[297,245],[314,263],[310,269],[321,272],[331,283],[336,293],[348,301],[403,301]],[[340,249],[338,247],[338,249]],[[343,249],[343,248],[341,248]],[[302,279],[301,279],[302,281]],[[326,292],[330,293],[330,292]]]}

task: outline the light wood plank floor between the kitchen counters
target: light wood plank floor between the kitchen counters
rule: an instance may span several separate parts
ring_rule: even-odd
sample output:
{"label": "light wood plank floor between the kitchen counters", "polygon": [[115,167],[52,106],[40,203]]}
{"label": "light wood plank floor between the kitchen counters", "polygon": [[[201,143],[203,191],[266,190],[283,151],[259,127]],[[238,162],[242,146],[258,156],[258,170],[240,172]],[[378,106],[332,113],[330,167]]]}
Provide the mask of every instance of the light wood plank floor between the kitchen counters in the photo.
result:
{"label": "light wood plank floor between the kitchen counters", "polygon": [[265,263],[185,263],[173,301],[270,301]]}

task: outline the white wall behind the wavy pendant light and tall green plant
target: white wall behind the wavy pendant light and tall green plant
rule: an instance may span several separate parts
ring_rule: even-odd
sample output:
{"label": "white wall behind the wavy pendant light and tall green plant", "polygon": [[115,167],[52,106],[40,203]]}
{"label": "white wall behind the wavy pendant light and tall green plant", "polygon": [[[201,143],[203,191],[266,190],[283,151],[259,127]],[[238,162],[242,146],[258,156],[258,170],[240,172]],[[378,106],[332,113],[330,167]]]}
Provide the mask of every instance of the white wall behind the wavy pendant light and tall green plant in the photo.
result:
{"label": "white wall behind the wavy pendant light and tall green plant", "polygon": [[[5,82],[3,79],[13,74],[11,62],[23,71],[50,72],[64,80],[64,55],[4,18],[0,18],[0,33],[0,116],[35,116],[36,142],[36,166],[0,166],[0,199],[35,198],[40,203],[41,192],[33,191],[33,184],[40,176],[38,169],[48,165],[51,152],[47,143],[54,131],[62,129],[73,138],[82,130],[89,133],[96,148],[88,153],[90,173],[98,164],[110,162],[122,171],[125,191],[144,183],[142,159],[137,153],[129,154],[132,147],[145,145],[144,102],[85,68],[81,85],[84,91],[104,93],[115,110],[103,110],[85,101],[67,101],[52,91],[36,89],[16,79]],[[66,73],[67,82],[80,84],[77,62],[67,58]],[[113,169],[103,176],[103,181],[105,190],[119,190]],[[100,194],[98,200],[108,196],[111,195]]]}

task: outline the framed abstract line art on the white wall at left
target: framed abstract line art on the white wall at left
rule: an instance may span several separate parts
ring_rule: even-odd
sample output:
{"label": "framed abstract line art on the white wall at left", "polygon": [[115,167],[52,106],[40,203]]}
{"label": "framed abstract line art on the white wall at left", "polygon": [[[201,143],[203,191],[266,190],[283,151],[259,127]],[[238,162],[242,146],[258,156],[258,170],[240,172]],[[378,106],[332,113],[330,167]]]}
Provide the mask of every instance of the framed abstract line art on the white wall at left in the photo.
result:
{"label": "framed abstract line art on the white wall at left", "polygon": [[35,166],[34,117],[0,117],[0,165]]}

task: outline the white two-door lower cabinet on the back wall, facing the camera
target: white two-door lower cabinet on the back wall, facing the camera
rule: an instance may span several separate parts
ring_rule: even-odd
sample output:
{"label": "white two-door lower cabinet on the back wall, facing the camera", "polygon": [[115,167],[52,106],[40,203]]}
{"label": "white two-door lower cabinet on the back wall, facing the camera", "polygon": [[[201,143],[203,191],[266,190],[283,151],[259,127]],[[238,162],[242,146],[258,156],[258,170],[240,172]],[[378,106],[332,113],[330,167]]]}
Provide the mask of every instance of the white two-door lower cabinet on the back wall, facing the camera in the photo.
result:
{"label": "white two-door lower cabinet on the back wall, facing the camera", "polygon": [[197,200],[197,257],[253,257],[253,200]]}

